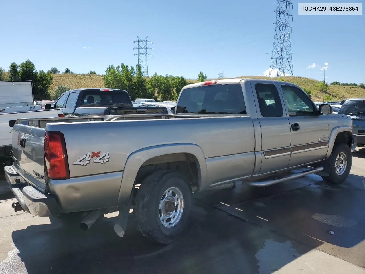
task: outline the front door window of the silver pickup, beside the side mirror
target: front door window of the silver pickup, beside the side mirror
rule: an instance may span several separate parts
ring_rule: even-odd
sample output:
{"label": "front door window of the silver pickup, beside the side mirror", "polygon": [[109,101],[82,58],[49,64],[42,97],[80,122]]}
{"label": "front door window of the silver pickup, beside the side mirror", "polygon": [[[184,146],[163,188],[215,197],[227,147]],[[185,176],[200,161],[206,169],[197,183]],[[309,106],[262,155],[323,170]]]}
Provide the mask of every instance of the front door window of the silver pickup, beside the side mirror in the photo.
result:
{"label": "front door window of the silver pickup, beside the side mirror", "polygon": [[314,105],[308,96],[299,88],[291,85],[281,85],[289,116],[307,116],[315,113]]}

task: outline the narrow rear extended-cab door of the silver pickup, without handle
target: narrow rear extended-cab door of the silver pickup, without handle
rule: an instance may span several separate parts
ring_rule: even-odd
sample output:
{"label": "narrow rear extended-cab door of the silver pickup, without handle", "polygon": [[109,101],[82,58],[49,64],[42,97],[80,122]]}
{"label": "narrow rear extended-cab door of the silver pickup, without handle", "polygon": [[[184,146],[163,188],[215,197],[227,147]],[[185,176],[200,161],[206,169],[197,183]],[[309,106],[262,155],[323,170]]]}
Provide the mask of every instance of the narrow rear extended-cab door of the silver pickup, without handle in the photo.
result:
{"label": "narrow rear extended-cab door of the silver pickup, without handle", "polygon": [[[276,83],[250,80],[261,127],[261,168],[258,174],[284,169],[290,159],[290,127]],[[256,134],[256,133],[255,133]]]}

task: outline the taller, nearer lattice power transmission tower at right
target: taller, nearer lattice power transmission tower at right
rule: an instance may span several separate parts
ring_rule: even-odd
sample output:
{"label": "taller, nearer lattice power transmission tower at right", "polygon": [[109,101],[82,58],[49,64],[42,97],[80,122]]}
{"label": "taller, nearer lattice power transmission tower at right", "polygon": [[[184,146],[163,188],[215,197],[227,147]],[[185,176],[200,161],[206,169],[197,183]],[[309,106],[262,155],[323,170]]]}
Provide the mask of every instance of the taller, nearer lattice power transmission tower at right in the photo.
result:
{"label": "taller, nearer lattice power transmission tower at right", "polygon": [[293,76],[292,49],[290,45],[291,26],[289,23],[289,18],[292,16],[289,11],[290,5],[293,9],[290,0],[276,0],[276,11],[273,11],[276,13],[275,34],[269,77],[271,77],[272,71],[276,71],[277,76],[285,76],[285,72]]}

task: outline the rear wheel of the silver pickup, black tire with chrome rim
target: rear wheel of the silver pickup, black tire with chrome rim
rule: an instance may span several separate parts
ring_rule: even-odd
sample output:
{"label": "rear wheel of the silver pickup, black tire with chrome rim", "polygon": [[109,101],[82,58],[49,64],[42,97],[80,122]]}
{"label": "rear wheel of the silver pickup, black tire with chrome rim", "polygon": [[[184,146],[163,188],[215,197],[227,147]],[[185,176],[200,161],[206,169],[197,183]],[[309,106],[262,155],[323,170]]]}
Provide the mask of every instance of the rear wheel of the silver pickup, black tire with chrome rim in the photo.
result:
{"label": "rear wheel of the silver pickup, black tire with chrome rim", "polygon": [[174,171],[156,171],[143,180],[135,199],[138,230],[161,244],[172,243],[188,225],[191,188]]}

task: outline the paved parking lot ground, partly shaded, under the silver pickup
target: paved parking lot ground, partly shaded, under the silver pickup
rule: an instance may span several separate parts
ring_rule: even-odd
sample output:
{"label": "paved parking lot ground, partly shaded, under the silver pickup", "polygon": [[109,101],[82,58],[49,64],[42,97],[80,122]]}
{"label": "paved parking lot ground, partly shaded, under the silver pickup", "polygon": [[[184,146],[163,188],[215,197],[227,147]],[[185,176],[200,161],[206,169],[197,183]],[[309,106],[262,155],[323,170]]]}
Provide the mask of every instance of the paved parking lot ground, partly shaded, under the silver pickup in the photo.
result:
{"label": "paved parking lot ground, partly shaded, under the silver pickup", "polygon": [[[266,188],[238,183],[194,196],[190,225],[168,246],[116,214],[88,231],[14,213],[0,184],[0,273],[365,273],[365,149],[341,186],[310,175]],[[131,213],[132,214],[132,213]]]}

